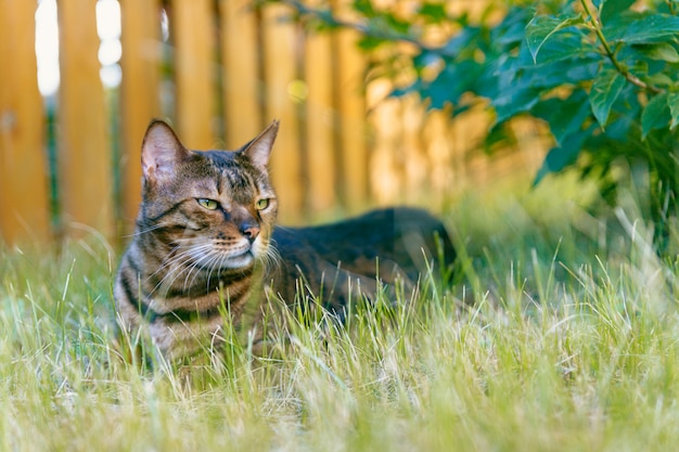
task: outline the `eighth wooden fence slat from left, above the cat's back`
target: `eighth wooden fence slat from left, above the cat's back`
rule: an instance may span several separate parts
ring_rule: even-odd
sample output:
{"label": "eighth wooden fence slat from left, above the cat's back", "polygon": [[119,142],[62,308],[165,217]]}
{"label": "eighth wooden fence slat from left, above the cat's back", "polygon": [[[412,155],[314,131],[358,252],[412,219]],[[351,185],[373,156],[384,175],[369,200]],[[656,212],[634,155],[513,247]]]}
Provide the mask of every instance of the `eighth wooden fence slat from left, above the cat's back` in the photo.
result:
{"label": "eighth wooden fence slat from left, above the cat's back", "polygon": [[358,34],[337,34],[337,107],[340,157],[346,207],[354,211],[368,203],[368,147],[366,143],[364,59],[356,47]]}

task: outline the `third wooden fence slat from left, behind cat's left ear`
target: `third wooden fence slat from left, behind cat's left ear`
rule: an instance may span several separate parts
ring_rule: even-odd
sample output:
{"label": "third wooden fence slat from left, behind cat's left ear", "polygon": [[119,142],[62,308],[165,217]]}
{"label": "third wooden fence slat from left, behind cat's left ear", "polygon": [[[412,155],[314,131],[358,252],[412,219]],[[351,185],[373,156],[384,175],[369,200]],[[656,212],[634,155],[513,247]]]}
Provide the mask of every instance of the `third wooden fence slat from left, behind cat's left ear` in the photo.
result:
{"label": "third wooden fence slat from left, behind cat's left ear", "polygon": [[141,199],[141,142],[149,121],[161,116],[161,5],[158,0],[121,0],[123,215],[128,224]]}

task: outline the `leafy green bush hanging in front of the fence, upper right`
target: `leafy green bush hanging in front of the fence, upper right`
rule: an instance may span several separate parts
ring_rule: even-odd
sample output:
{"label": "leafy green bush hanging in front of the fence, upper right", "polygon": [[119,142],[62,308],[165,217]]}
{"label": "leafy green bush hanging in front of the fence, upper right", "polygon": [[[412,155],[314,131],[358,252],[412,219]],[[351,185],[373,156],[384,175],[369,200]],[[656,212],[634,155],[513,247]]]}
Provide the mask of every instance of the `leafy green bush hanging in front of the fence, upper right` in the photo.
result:
{"label": "leafy green bush hanging in front of the fence, upper right", "polygon": [[[476,22],[443,2],[423,2],[403,15],[355,0],[351,21],[328,4],[284,3],[312,28],[359,30],[361,48],[382,55],[373,69],[411,80],[393,95],[415,92],[428,108],[450,105],[452,116],[483,103],[495,114],[487,148],[507,138],[512,118],[543,120],[554,146],[535,183],[575,168],[594,175],[614,201],[616,168],[648,168],[651,219],[657,236],[667,235],[663,225],[678,210],[679,185],[677,1],[489,2]],[[432,44],[433,30],[446,39]]]}

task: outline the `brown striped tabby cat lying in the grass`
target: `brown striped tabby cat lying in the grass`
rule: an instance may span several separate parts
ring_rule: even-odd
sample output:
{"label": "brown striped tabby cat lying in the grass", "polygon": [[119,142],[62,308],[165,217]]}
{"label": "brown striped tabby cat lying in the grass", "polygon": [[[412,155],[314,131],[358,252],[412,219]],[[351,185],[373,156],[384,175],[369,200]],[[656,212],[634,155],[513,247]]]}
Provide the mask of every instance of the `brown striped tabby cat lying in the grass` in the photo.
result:
{"label": "brown striped tabby cat lying in the grass", "polygon": [[123,334],[144,331],[165,358],[181,359],[221,347],[229,315],[261,351],[272,298],[299,306],[322,294],[342,320],[379,280],[417,282],[437,245],[452,262],[444,224],[415,208],[277,228],[268,163],[278,129],[273,121],[238,151],[190,151],[167,122],[150,124],[136,230],[114,284]]}

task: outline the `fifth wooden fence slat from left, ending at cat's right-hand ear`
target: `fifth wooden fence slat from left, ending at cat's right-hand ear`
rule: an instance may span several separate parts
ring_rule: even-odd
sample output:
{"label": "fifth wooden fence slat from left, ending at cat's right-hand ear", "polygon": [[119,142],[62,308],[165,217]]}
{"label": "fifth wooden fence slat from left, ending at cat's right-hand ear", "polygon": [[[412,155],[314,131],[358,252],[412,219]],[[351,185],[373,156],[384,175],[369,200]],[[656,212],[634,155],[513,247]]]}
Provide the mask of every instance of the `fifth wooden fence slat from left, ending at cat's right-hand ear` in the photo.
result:
{"label": "fifth wooden fence slat from left, ending at cat's right-hand ear", "polygon": [[221,0],[225,138],[236,148],[264,129],[257,16],[251,0]]}

